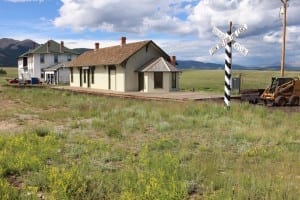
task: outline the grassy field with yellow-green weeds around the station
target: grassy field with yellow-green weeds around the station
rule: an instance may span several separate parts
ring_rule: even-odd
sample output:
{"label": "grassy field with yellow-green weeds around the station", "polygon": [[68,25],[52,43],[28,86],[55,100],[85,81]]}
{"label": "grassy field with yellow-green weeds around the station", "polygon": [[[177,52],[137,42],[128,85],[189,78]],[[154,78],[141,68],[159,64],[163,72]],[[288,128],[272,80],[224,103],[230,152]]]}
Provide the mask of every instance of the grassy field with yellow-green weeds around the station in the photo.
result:
{"label": "grassy field with yellow-green weeds around the station", "polygon": [[0,105],[0,199],[300,196],[297,112],[5,86]]}

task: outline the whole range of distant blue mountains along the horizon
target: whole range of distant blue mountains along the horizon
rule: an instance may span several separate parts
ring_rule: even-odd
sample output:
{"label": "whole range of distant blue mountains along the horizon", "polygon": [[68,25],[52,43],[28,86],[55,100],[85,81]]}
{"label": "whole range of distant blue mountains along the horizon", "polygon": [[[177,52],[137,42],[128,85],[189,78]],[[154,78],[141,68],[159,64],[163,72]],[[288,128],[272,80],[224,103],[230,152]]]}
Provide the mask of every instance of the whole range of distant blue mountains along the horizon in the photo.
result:
{"label": "whole range of distant blue mountains along the horizon", "polygon": [[[0,39],[0,67],[2,66],[17,66],[17,58],[28,51],[29,49],[36,48],[38,45],[37,42],[26,39],[23,41],[14,40],[10,38]],[[76,48],[73,49],[78,53],[83,53],[87,50],[86,48]],[[224,64],[217,63],[206,63],[194,60],[178,60],[178,68],[181,70],[187,69],[224,69]],[[233,65],[233,69],[241,70],[279,70],[280,65],[270,65],[270,66],[258,66],[258,67],[248,67],[242,65]],[[295,68],[289,65],[286,65],[287,70],[300,71],[300,68]]]}

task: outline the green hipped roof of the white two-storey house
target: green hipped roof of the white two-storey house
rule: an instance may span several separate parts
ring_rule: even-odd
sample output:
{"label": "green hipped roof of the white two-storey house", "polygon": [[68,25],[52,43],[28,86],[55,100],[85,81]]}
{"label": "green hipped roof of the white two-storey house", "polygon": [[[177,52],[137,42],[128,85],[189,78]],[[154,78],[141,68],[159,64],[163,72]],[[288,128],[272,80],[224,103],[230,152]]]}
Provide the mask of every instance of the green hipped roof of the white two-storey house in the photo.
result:
{"label": "green hipped roof of the white two-storey house", "polygon": [[[57,53],[61,54],[60,52],[60,43],[55,42],[54,40],[49,40],[45,44],[38,46],[35,49],[30,49],[29,51],[25,52],[24,54],[20,55],[20,57],[27,57],[31,54],[47,54],[47,53]],[[76,54],[79,55],[78,52],[68,49],[67,47],[63,47],[63,53],[68,54]]]}

